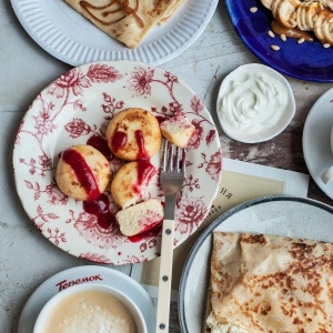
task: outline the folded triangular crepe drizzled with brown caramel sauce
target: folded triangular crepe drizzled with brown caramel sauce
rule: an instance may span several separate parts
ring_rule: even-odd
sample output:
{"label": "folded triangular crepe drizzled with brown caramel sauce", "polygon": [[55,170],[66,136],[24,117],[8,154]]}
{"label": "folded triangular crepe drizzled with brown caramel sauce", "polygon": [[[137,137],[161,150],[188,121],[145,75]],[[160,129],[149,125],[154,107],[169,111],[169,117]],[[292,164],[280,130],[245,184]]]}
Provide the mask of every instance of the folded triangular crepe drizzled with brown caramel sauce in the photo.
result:
{"label": "folded triangular crepe drizzled with brown caramel sauce", "polygon": [[185,0],[65,0],[109,36],[135,48],[158,23],[167,22]]}

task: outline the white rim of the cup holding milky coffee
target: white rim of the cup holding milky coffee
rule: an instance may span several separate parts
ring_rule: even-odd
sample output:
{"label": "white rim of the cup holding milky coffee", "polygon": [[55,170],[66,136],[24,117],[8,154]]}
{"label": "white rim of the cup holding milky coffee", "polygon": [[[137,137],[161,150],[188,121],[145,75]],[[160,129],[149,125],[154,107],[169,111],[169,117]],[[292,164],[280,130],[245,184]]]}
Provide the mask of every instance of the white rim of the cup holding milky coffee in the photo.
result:
{"label": "white rim of the cup holding milky coffee", "polygon": [[[41,312],[39,313],[34,327],[33,333],[46,333],[44,325],[52,313],[65,299],[80,293],[80,292],[89,292],[89,291],[97,291],[112,295],[114,299],[120,301],[127,310],[130,312],[132,319],[134,320],[138,329],[138,333],[148,333],[147,325],[143,319],[143,315],[137,304],[125,294],[113,289],[109,285],[103,284],[94,284],[94,283],[85,283],[80,285],[70,286],[53,297],[51,297],[46,305],[42,307]],[[63,304],[63,303],[62,303]]]}

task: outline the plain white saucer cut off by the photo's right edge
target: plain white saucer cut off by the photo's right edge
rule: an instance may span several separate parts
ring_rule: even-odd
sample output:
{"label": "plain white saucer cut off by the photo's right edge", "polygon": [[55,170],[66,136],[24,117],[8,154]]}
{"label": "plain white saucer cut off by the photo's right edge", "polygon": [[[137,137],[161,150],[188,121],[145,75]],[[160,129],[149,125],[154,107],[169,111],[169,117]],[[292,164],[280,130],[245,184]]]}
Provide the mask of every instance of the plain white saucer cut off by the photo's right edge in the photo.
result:
{"label": "plain white saucer cut off by the photo's right edge", "polygon": [[312,107],[303,130],[303,153],[309,172],[319,188],[333,199],[333,183],[325,184],[320,175],[333,164],[331,131],[333,127],[333,89]]}

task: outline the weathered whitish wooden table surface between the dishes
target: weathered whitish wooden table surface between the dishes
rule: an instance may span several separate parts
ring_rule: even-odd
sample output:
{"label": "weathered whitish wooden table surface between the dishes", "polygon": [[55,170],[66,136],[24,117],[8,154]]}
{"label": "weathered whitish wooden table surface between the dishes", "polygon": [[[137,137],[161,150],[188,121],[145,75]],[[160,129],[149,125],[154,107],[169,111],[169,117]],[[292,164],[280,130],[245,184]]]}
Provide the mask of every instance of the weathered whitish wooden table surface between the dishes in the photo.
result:
{"label": "weathered whitish wooden table surface between the dishes", "polygon": [[[216,120],[215,100],[222,79],[236,67],[260,62],[228,17],[223,1],[202,36],[182,54],[160,65],[191,87],[216,122],[223,155],[309,173],[302,151],[304,121],[313,103],[332,83],[291,83],[296,114],[286,130],[260,144],[244,144],[225,137]],[[20,26],[9,1],[0,2],[0,332],[17,332],[18,319],[31,293],[46,279],[64,269],[87,264],[46,240],[22,209],[12,175],[12,149],[21,119],[36,95],[71,67],[41,49]],[[310,181],[309,198],[330,205]],[[129,268],[117,268],[129,272]],[[172,304],[171,332],[180,332],[176,304]]]}

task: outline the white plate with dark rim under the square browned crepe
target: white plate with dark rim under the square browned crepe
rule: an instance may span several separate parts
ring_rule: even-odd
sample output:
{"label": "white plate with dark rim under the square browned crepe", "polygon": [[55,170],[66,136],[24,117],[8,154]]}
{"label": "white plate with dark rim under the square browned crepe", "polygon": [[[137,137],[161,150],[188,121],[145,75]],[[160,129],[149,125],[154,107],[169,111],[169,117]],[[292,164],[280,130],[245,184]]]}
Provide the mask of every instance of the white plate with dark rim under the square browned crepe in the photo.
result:
{"label": "white plate with dark rim under the square browned crepe", "polygon": [[258,232],[333,242],[333,208],[310,199],[273,195],[249,201],[216,219],[202,233],[184,265],[179,289],[183,333],[202,332],[213,231]]}

